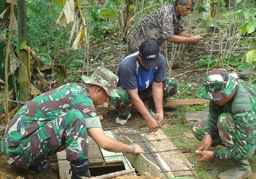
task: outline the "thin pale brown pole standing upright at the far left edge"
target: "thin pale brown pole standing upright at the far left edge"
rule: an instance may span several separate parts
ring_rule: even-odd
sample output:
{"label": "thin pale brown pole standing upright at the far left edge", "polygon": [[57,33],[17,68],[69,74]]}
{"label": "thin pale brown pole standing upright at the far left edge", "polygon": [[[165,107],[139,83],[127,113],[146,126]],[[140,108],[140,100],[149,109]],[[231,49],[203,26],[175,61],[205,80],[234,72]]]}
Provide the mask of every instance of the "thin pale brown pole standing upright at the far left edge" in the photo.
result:
{"label": "thin pale brown pole standing upright at the far left edge", "polygon": [[4,101],[5,101],[5,112],[6,112],[6,121],[9,122],[9,109],[8,109],[8,57],[10,53],[10,42],[12,37],[12,22],[13,22],[13,0],[11,1],[11,13],[10,13],[10,24],[9,24],[9,35],[8,42],[6,45],[6,56],[5,56],[5,64],[4,64],[4,76],[5,76],[5,87],[4,87]]}

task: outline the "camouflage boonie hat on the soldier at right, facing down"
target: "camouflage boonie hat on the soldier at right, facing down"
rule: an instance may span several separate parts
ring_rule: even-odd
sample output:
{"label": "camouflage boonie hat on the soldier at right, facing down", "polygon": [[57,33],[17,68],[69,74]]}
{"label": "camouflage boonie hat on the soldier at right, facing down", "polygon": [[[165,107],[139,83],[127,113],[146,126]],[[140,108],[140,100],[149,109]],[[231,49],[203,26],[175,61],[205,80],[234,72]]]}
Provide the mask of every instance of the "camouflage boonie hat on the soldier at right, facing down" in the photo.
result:
{"label": "camouflage boonie hat on the soldier at right, facing down", "polygon": [[235,73],[228,73],[222,68],[213,69],[204,78],[200,87],[201,96],[214,101],[225,99],[237,90],[238,80]]}

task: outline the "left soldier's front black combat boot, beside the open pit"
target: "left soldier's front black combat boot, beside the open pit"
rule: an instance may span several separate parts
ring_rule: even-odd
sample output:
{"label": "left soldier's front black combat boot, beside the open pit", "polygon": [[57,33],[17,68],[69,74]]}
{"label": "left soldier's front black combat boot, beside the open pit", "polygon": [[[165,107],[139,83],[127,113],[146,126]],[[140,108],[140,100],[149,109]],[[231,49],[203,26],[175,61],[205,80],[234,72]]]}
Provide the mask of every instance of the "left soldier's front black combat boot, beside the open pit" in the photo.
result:
{"label": "left soldier's front black combat boot, beside the open pit", "polygon": [[82,179],[82,177],[91,177],[89,171],[89,160],[71,161],[70,171],[72,171],[71,179]]}

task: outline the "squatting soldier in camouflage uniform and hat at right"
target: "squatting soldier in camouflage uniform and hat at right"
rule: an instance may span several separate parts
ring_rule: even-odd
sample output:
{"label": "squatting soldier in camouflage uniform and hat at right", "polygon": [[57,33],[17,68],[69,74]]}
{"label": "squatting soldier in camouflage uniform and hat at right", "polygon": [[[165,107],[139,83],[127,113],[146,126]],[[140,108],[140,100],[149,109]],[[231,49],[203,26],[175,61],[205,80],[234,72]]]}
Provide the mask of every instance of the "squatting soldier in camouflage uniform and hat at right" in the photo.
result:
{"label": "squatting soldier in camouflage uniform and hat at right", "polygon": [[[196,151],[200,161],[233,160],[234,167],[218,175],[220,179],[246,179],[251,174],[248,159],[256,144],[256,87],[225,69],[208,72],[200,93],[210,100],[208,119],[196,123],[194,135],[201,141]],[[210,146],[227,148],[208,151]]]}

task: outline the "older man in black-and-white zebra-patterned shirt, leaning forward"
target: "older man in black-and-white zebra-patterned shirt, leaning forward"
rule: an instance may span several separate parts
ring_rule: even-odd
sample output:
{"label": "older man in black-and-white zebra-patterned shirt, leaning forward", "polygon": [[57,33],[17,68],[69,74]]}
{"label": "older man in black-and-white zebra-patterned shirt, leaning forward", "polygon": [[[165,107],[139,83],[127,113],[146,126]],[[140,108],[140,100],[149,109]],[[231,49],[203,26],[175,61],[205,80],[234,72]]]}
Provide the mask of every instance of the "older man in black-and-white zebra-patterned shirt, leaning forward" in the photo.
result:
{"label": "older man in black-and-white zebra-patterned shirt, leaning forward", "polygon": [[139,50],[145,40],[154,40],[161,46],[167,42],[197,44],[202,37],[184,32],[180,18],[190,14],[196,0],[176,0],[172,6],[164,6],[148,14],[131,32],[126,55]]}

